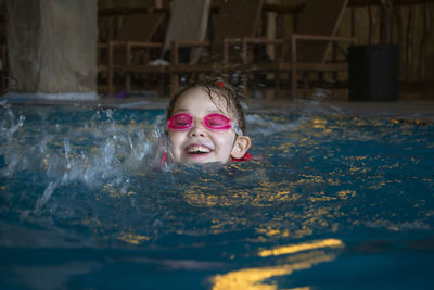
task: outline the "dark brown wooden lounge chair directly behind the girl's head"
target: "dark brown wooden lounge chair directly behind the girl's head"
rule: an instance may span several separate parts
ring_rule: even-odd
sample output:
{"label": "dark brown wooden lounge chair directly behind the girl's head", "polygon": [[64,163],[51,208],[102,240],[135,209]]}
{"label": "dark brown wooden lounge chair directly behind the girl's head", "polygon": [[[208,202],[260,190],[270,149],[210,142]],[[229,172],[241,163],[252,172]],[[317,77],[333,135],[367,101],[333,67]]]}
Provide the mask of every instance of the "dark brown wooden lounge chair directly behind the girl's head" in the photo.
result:
{"label": "dark brown wooden lounge chair directly behind the girl's head", "polygon": [[[174,39],[169,66],[171,91],[178,89],[179,76],[182,74],[220,74],[227,78],[229,72],[238,70],[238,65],[241,63],[235,61],[237,56],[234,55],[240,55],[241,50],[235,49],[235,53],[230,53],[231,48],[238,47],[240,39],[257,36],[263,4],[264,0],[227,1],[213,18],[212,41]],[[191,58],[190,62],[182,63],[179,51],[183,48],[202,50],[206,58],[200,59],[199,55],[195,55],[195,58]]]}

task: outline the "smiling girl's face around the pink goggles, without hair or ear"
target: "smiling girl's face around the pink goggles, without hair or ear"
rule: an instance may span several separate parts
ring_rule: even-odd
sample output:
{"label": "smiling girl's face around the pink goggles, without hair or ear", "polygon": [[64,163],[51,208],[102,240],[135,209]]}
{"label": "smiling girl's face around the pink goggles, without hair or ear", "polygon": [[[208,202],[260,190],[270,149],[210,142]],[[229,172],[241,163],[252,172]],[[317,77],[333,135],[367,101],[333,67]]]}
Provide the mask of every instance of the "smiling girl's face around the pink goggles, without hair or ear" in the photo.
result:
{"label": "smiling girl's face around the pink goggles, without hair or ear", "polygon": [[221,98],[215,98],[215,101],[217,101],[217,105],[202,88],[189,89],[179,97],[173,115],[188,113],[194,122],[193,126],[187,130],[169,129],[168,131],[176,162],[227,163],[232,151],[237,151],[234,146],[237,135],[232,129],[214,131],[208,130],[202,124],[203,118],[212,113],[231,118],[226,112],[226,101]]}

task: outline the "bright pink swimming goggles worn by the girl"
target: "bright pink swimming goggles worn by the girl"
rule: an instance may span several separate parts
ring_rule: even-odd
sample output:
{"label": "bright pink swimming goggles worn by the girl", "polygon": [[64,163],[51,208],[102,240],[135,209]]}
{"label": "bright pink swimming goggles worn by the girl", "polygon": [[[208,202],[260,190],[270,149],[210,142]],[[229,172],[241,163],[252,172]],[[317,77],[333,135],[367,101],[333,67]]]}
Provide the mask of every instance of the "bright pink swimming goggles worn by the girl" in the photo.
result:
{"label": "bright pink swimming goggles worn by the girl", "polygon": [[[193,127],[193,116],[187,113],[175,114],[167,121],[167,127],[170,130],[188,130]],[[233,124],[230,118],[221,114],[206,115],[203,118],[202,124],[205,126],[205,128],[212,131],[222,131],[232,128],[237,135],[243,135],[243,131],[239,126]]]}

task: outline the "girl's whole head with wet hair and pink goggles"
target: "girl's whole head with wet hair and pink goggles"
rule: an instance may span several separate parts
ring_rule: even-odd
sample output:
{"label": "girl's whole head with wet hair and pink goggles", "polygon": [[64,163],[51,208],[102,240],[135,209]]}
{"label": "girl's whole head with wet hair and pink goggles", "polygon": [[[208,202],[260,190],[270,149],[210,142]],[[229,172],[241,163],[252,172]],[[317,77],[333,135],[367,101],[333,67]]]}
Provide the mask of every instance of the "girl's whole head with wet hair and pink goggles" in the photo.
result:
{"label": "girl's whole head with wet hair and pink goggles", "polygon": [[243,157],[251,146],[237,94],[221,83],[180,90],[168,104],[167,119],[176,162],[227,163]]}

